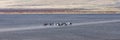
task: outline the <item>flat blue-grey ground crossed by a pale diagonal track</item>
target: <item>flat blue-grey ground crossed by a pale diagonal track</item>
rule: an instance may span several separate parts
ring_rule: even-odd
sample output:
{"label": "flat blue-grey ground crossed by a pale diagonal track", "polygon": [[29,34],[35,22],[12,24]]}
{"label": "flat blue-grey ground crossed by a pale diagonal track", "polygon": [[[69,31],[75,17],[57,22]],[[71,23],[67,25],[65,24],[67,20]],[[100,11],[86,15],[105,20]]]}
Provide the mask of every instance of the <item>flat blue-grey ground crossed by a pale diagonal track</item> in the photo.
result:
{"label": "flat blue-grey ground crossed by a pale diagonal track", "polygon": [[[75,25],[43,26],[54,22]],[[2,14],[0,40],[120,40],[120,14]]]}

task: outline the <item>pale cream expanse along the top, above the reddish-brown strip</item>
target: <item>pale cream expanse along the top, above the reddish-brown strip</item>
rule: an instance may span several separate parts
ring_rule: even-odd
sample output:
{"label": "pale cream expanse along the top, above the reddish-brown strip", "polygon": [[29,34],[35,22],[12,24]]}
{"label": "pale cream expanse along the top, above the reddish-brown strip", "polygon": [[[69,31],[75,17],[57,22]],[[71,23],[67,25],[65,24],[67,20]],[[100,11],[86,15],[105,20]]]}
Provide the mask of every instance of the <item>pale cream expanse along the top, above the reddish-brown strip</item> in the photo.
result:
{"label": "pale cream expanse along the top, above the reddish-brown strip", "polygon": [[0,8],[108,8],[120,0],[0,0]]}

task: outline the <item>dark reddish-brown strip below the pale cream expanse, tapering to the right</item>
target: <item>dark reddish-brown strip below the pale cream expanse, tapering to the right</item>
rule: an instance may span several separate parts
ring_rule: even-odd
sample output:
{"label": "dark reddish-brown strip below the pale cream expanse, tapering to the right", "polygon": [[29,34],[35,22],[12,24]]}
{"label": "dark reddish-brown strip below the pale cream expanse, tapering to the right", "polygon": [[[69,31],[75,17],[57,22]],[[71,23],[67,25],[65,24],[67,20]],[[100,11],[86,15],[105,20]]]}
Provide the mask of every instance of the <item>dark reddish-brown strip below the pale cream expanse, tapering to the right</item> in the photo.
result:
{"label": "dark reddish-brown strip below the pale cream expanse, tapering to the right", "polygon": [[91,10],[84,8],[74,8],[74,9],[0,9],[0,12],[63,12],[63,11],[73,11],[73,10]]}

